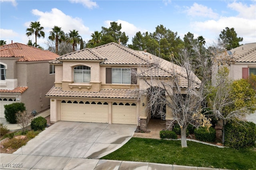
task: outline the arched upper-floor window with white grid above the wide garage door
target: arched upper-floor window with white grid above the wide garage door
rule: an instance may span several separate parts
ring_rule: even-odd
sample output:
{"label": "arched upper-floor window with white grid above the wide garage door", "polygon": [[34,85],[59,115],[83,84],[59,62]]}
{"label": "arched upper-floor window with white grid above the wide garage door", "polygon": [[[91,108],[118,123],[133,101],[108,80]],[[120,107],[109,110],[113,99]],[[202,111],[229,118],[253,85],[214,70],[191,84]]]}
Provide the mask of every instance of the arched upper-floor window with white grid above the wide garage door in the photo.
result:
{"label": "arched upper-floor window with white grid above the wide garage door", "polygon": [[91,68],[85,65],[74,67],[74,82],[89,83],[91,81]]}

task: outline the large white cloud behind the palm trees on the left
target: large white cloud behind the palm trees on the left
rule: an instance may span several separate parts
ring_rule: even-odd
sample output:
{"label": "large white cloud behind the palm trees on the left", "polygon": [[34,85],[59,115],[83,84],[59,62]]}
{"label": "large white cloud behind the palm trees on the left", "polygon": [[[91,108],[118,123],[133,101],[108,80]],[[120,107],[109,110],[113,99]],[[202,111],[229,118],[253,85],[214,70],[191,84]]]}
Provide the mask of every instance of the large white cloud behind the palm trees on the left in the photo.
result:
{"label": "large white cloud behind the palm trees on the left", "polygon": [[[81,18],[68,16],[57,8],[52,8],[50,12],[42,12],[37,9],[32,10],[32,14],[39,16],[38,21],[44,27],[44,32],[48,33],[54,26],[59,26],[68,33],[69,30],[78,30],[80,36],[90,35],[89,28],[84,26]],[[30,22],[26,22],[25,26],[28,28]]]}

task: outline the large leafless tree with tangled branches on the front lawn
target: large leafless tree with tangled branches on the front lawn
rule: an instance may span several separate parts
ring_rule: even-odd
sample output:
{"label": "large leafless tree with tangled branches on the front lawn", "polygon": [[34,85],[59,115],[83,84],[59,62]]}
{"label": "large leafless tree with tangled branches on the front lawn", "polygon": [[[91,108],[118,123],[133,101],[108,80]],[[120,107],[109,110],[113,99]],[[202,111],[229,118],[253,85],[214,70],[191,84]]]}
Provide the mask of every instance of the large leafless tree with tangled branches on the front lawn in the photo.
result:
{"label": "large leafless tree with tangled branches on the front lawn", "polygon": [[[196,46],[193,50],[196,52],[183,49],[178,59],[171,57],[172,63],[150,56],[147,65],[140,66],[138,71],[140,83],[148,87],[139,90],[140,99],[146,95],[151,116],[164,115],[164,108],[171,112],[171,117],[166,115],[166,118],[170,120],[170,126],[174,123],[180,126],[182,147],[187,147],[186,129],[189,124],[194,127],[211,126],[210,119],[201,113],[201,109],[210,91],[212,64],[224,48],[221,42],[217,42],[208,53],[202,54],[200,47]],[[201,80],[195,72],[201,75]]]}

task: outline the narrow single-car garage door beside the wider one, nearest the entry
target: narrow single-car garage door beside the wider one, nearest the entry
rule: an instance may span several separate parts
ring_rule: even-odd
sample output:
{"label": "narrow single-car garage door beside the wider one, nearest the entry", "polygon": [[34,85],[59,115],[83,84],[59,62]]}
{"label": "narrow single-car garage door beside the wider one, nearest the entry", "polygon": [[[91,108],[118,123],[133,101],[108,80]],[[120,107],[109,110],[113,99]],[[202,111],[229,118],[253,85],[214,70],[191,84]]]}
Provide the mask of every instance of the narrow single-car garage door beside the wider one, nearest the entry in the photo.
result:
{"label": "narrow single-car garage door beside the wider one, nearest the entry", "polygon": [[136,103],[113,103],[112,123],[137,125]]}

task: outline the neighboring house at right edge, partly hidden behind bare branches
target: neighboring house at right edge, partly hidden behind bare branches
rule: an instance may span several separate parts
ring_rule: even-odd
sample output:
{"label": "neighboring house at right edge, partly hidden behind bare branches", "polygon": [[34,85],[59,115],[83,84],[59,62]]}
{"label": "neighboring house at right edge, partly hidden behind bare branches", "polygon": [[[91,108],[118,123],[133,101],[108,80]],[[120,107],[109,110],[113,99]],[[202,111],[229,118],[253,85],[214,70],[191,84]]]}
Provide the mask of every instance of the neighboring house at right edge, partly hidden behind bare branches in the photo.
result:
{"label": "neighboring house at right edge, partly hidden behind bare branches", "polygon": [[[231,59],[231,62],[228,63],[230,79],[246,79],[250,74],[256,75],[256,43],[247,43],[231,49],[222,56],[222,59]],[[213,81],[218,67],[227,65],[224,63],[220,60],[213,66]],[[248,116],[247,119],[256,123],[256,113]]]}

